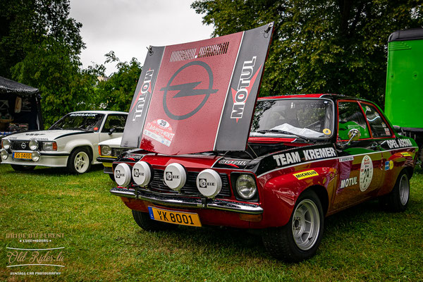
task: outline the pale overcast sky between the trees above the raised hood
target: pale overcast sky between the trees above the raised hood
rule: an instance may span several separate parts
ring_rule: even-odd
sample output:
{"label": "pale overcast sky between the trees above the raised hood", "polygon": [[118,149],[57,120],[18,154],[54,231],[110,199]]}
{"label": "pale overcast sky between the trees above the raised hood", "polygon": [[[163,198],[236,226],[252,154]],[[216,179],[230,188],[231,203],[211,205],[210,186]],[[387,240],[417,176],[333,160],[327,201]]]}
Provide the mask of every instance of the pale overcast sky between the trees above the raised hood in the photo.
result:
{"label": "pale overcast sky between the trees above the raised hood", "polygon": [[[193,0],[71,0],[71,18],[82,23],[86,44],[84,68],[104,63],[114,51],[121,61],[133,57],[144,64],[147,47],[208,39],[213,27],[202,25],[202,16],[190,8]],[[106,75],[116,71],[106,64]]]}

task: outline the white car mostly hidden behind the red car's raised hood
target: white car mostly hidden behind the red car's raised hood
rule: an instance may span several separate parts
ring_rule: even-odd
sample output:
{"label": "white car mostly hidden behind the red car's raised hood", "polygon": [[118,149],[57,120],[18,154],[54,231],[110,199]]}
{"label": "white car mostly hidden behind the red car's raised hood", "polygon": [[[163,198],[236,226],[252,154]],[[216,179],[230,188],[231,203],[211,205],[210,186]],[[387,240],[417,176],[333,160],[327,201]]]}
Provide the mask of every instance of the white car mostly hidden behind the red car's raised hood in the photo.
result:
{"label": "white car mostly hidden behind the red car's raised hood", "polygon": [[97,161],[101,162],[104,166],[104,173],[108,173],[111,180],[114,179],[113,162],[119,157],[120,154],[127,152],[130,149],[121,147],[122,137],[117,137],[111,140],[99,142],[99,154]]}

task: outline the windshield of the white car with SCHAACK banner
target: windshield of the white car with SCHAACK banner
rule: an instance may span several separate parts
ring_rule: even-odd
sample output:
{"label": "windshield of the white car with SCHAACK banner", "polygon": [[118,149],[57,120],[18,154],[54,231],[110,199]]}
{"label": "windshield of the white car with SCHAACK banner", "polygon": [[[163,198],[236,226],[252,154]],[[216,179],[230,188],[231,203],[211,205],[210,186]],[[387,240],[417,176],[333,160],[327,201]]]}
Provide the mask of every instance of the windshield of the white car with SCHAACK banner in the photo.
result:
{"label": "windshield of the white car with SCHAACK banner", "polygon": [[102,124],[104,114],[95,113],[71,113],[63,116],[59,121],[51,125],[49,129],[76,129],[97,131]]}

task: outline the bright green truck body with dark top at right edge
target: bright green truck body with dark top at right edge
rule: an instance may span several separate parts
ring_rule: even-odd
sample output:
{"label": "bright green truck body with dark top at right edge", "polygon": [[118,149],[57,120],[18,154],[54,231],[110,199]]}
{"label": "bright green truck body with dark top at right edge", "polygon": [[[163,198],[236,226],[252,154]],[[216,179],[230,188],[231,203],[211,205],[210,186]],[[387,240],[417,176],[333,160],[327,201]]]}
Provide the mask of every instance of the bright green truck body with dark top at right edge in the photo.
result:
{"label": "bright green truck body with dark top at right edge", "polygon": [[423,161],[423,28],[389,36],[385,113],[398,133],[417,142]]}

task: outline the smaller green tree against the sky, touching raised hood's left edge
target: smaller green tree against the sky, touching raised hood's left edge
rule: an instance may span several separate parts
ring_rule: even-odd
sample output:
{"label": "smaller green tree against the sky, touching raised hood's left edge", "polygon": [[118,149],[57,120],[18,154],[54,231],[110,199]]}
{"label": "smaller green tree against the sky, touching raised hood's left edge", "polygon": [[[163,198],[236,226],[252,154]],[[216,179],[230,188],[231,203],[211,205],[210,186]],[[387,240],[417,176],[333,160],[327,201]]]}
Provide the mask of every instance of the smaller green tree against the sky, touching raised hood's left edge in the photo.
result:
{"label": "smaller green tree against the sky, touching raised hood's left edge", "polygon": [[121,62],[114,51],[110,51],[105,56],[106,63],[116,63],[118,70],[98,83],[95,92],[96,104],[111,111],[129,111],[142,71],[141,64],[135,58],[130,62]]}

